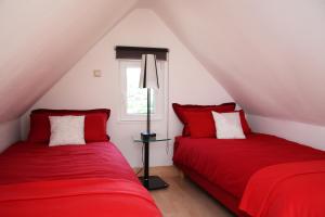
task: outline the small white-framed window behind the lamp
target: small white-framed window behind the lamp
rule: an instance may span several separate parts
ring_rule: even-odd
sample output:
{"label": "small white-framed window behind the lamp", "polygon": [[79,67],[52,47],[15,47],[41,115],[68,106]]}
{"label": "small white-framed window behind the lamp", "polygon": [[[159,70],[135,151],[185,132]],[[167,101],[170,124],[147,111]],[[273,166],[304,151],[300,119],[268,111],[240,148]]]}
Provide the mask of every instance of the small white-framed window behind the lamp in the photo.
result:
{"label": "small white-framed window behind the lamp", "polygon": [[[165,62],[157,61],[159,89],[151,91],[152,119],[162,118],[164,95],[165,95]],[[141,61],[122,60],[120,61],[121,78],[121,120],[146,120],[147,90],[139,88],[141,73]]]}

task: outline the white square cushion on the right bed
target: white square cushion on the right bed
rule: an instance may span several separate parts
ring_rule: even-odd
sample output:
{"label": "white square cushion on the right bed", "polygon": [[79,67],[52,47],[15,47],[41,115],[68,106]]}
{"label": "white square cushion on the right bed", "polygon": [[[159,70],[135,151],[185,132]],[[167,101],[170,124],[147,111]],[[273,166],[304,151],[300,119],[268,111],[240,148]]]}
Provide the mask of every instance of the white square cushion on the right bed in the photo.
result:
{"label": "white square cushion on the right bed", "polygon": [[238,112],[212,112],[218,139],[246,139]]}

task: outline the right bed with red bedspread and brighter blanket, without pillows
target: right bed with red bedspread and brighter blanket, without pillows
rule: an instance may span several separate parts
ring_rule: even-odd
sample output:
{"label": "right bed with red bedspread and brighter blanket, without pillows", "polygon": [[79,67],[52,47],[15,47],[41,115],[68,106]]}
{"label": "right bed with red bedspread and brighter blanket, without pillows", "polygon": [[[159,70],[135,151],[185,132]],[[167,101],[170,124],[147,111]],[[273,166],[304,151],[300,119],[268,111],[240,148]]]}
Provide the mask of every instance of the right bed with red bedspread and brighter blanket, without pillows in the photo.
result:
{"label": "right bed with red bedspread and brighter blanket, without pillows", "polygon": [[325,152],[274,136],[176,138],[174,164],[238,216],[325,216]]}

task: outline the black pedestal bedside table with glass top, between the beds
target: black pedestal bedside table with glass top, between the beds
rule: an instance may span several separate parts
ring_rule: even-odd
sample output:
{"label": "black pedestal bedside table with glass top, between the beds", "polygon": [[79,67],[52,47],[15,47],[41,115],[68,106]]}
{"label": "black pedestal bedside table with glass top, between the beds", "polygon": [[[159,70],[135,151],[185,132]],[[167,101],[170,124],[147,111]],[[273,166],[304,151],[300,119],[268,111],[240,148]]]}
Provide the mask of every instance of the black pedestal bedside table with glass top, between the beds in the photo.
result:
{"label": "black pedestal bedside table with glass top, between the beds", "polygon": [[147,190],[165,189],[169,186],[160,177],[150,176],[150,143],[168,141],[168,140],[170,139],[159,137],[159,136],[150,139],[143,139],[141,138],[140,135],[133,137],[133,142],[141,142],[144,145],[144,176],[139,177],[139,179]]}

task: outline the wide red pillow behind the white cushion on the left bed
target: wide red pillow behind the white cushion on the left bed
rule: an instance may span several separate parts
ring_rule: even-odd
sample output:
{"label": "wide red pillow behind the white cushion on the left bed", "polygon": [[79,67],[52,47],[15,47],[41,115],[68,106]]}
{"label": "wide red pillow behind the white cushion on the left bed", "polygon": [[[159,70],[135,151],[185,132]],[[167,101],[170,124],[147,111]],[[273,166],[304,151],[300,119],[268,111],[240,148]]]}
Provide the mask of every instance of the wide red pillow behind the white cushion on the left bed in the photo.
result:
{"label": "wide red pillow behind the white cushion on the left bed", "polygon": [[100,110],[35,110],[30,114],[30,130],[28,141],[49,142],[51,126],[49,116],[84,115],[84,140],[86,142],[108,141],[106,123],[110,111]]}

